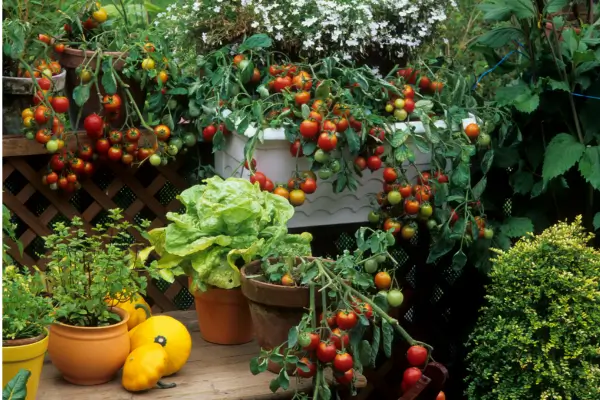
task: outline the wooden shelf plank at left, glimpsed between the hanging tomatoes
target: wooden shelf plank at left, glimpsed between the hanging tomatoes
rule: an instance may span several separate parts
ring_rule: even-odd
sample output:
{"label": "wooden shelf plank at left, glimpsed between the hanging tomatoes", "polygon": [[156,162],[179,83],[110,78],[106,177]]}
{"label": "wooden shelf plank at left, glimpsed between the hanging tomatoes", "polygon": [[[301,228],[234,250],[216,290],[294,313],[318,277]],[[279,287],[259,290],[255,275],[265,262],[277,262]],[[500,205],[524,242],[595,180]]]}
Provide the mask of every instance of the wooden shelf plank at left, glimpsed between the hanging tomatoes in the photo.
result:
{"label": "wooden shelf plank at left, glimpsed between the hanging tomatoes", "polygon": [[[156,141],[156,137],[152,131],[141,130],[142,139],[150,140],[151,143]],[[76,137],[77,136],[77,137]],[[92,141],[84,131],[69,132],[66,134],[66,147],[70,151],[77,150],[79,145],[92,144]],[[39,144],[35,140],[29,140],[23,135],[8,135],[2,137],[2,157],[19,157],[33,156],[39,154],[48,154],[46,147]]]}

